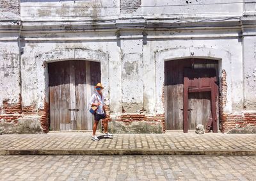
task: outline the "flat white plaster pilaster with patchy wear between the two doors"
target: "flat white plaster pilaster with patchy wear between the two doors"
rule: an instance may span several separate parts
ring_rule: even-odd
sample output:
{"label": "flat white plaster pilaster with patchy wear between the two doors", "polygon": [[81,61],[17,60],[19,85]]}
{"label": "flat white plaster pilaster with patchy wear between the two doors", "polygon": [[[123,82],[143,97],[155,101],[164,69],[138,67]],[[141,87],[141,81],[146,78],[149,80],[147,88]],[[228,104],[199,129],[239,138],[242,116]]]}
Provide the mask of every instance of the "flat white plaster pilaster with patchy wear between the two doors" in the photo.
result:
{"label": "flat white plaster pilaster with patchy wear between the two doors", "polygon": [[122,112],[140,113],[143,109],[142,40],[121,40]]}

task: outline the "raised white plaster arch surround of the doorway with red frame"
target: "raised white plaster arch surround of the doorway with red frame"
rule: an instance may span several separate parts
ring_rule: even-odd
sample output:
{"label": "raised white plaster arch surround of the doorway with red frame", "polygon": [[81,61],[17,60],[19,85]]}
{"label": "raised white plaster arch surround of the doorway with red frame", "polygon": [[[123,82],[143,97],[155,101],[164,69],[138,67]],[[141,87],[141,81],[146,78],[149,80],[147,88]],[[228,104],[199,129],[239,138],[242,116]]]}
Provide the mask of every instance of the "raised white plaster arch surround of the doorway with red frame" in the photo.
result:
{"label": "raised white plaster arch surround of the doorway with red frame", "polygon": [[[225,74],[231,74],[232,72],[232,54],[226,49],[212,49],[211,47],[192,47],[192,46],[182,46],[182,47],[170,47],[168,49],[160,49],[154,52],[155,59],[155,74],[156,81],[154,83],[154,88],[156,90],[156,97],[154,101],[154,107],[156,108],[156,114],[164,113],[164,61],[172,61],[175,59],[186,59],[186,58],[200,58],[200,59],[215,59],[218,60],[218,77],[222,79],[223,72]],[[227,88],[231,88],[231,76],[225,77],[225,82],[227,83]],[[221,83],[221,81],[220,81]],[[222,85],[220,84],[220,95]],[[228,90],[227,90],[228,92]],[[232,98],[231,94],[227,93],[225,97],[225,104],[221,104],[222,97],[220,97],[220,113],[224,110],[226,112],[232,110]],[[221,104],[221,105],[220,105]]]}

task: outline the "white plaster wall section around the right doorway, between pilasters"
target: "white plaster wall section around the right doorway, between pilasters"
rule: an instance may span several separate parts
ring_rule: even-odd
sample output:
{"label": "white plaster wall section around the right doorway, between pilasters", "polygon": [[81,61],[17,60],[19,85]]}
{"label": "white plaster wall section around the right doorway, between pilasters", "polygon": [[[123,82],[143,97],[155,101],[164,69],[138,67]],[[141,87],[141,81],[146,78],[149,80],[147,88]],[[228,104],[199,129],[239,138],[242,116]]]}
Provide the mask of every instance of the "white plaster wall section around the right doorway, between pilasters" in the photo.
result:
{"label": "white plaster wall section around the right doorway, between pilasters", "polygon": [[[148,36],[150,36],[150,33],[148,33]],[[220,59],[220,70],[225,69],[227,72],[228,93],[225,111],[232,113],[236,109],[243,109],[243,93],[241,93],[241,89],[243,89],[243,69],[241,68],[243,67],[243,54],[241,40],[237,38],[224,38],[224,40],[212,40],[211,38],[204,38],[204,40],[196,40],[196,38],[193,40],[172,41],[150,40],[147,41],[147,45],[144,45],[143,50],[145,52],[144,62],[147,62],[147,70],[144,68],[143,81],[145,88],[147,88],[144,92],[144,106],[145,109],[150,110],[150,113],[154,110],[155,114],[164,113],[162,103],[164,61],[192,57],[191,52],[194,53],[195,58]],[[156,70],[156,72],[150,70]],[[156,97],[156,99],[154,100],[152,97]]]}

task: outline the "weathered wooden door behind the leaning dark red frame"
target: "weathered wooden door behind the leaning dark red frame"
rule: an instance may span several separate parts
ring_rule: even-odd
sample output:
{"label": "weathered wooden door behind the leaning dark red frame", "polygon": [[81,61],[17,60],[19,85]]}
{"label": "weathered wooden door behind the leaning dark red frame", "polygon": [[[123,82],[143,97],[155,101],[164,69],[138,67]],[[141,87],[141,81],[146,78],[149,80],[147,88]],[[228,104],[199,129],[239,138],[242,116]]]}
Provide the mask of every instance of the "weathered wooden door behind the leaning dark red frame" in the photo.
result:
{"label": "weathered wooden door behind the leaning dark red frame", "polygon": [[[183,129],[184,69],[186,68],[215,68],[216,72],[218,72],[218,61],[210,59],[178,59],[164,63],[166,130]],[[208,118],[211,117],[211,93],[189,93],[188,110],[188,129],[195,130],[196,125],[199,123],[206,125]]]}

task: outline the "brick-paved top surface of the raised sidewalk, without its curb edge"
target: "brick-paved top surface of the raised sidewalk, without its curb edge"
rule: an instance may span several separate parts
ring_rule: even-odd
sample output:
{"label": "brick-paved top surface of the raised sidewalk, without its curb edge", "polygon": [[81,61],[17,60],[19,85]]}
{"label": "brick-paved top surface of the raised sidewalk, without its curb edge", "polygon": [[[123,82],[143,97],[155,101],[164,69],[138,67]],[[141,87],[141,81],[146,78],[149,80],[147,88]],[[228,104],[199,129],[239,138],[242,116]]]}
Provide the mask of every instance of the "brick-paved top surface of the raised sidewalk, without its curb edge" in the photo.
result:
{"label": "brick-paved top surface of the raised sidewalk, without its curb edge", "polygon": [[[98,133],[99,135],[100,133]],[[255,150],[256,134],[115,134],[113,139],[92,141],[91,132],[5,134],[1,150]]]}

